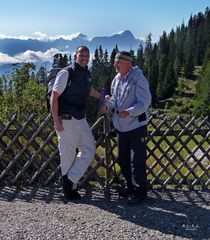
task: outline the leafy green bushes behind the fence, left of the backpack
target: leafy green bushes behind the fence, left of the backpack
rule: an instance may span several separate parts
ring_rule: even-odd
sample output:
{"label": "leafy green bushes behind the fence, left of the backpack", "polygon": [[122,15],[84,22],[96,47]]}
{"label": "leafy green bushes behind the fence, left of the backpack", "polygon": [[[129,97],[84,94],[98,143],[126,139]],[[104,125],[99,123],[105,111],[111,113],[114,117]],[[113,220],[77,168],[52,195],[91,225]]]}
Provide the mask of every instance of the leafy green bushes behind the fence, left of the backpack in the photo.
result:
{"label": "leafy green bushes behind the fence, left of the backpack", "polygon": [[32,63],[26,63],[11,74],[12,87],[1,96],[1,118],[13,113],[34,113],[39,116],[46,113],[46,87],[37,81],[34,70]]}

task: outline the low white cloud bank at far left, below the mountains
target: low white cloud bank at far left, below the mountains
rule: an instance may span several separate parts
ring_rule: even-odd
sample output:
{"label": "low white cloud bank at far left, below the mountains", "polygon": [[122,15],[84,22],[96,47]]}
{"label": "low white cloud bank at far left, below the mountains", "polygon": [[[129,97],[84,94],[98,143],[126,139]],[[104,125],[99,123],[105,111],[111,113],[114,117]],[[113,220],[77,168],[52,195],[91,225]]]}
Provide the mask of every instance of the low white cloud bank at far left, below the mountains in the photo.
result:
{"label": "low white cloud bank at far left, below the mountains", "polygon": [[61,52],[56,48],[51,48],[46,52],[41,52],[41,51],[35,52],[35,51],[27,50],[26,52],[17,54],[15,56],[10,56],[8,54],[4,54],[0,52],[0,64],[7,64],[7,63],[13,64],[13,63],[20,63],[20,62],[45,62],[45,61],[52,62],[53,56],[56,53],[64,54],[66,52]]}

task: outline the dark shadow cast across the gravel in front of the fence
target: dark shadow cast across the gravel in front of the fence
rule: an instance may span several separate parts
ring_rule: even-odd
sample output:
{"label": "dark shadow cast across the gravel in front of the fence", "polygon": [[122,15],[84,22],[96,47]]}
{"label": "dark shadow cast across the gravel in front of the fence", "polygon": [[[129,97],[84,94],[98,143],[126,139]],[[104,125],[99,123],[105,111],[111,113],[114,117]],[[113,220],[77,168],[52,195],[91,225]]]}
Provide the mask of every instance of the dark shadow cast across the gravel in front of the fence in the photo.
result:
{"label": "dark shadow cast across the gravel in front of the fence", "polygon": [[148,200],[129,206],[114,191],[81,190],[83,198],[67,202],[60,188],[1,187],[1,201],[92,205],[141,227],[190,239],[210,239],[210,192],[151,190]]}

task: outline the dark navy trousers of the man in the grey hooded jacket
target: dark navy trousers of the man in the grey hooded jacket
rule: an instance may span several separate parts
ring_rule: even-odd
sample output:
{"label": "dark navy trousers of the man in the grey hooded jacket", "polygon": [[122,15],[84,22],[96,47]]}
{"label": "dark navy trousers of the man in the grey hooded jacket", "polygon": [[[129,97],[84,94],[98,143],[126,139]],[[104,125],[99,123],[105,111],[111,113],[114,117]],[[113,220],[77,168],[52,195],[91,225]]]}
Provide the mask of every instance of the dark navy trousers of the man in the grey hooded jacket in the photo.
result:
{"label": "dark navy trousers of the man in the grey hooded jacket", "polygon": [[146,176],[147,126],[129,132],[118,132],[118,162],[129,189],[147,192]]}

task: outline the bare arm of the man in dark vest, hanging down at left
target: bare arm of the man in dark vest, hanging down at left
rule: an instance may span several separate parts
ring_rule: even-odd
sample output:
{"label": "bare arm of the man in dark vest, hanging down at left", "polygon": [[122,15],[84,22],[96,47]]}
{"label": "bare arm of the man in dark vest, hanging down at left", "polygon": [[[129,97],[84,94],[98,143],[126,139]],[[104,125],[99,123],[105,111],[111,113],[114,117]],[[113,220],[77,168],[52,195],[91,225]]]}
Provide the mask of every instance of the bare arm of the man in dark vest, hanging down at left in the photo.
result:
{"label": "bare arm of the man in dark vest, hanging down at left", "polygon": [[62,126],[62,121],[58,115],[58,98],[60,94],[58,92],[52,91],[50,98],[51,112],[54,120],[55,130],[61,132],[64,130]]}

